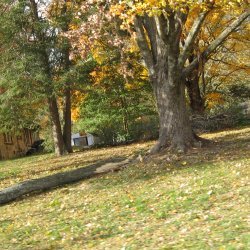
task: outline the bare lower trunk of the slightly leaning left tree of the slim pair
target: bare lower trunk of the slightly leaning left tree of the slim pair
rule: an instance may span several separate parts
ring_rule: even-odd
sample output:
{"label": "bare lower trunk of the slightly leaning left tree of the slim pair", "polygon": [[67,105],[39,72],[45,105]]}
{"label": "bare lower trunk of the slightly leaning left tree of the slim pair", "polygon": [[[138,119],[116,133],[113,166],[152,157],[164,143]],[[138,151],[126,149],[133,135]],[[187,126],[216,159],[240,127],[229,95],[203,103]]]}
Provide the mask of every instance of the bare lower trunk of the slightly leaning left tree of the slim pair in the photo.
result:
{"label": "bare lower trunk of the slightly leaning left tree of the slim pair", "polygon": [[62,128],[61,128],[60,116],[58,112],[56,98],[53,96],[50,97],[48,99],[48,104],[49,104],[49,111],[53,128],[55,153],[56,155],[61,156],[64,154],[65,147],[64,147]]}

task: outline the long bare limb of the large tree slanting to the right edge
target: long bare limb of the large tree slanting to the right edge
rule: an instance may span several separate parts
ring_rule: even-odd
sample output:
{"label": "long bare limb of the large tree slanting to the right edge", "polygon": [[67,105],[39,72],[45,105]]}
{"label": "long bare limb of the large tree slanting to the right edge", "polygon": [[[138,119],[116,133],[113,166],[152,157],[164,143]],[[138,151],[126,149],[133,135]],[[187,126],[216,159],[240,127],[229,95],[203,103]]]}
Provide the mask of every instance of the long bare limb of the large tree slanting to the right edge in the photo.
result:
{"label": "long bare limb of the large tree slanting to the right edge", "polygon": [[[250,9],[247,9],[242,13],[231,25],[229,25],[202,53],[201,57],[203,61],[207,61],[208,57],[233,33],[248,17],[250,16]],[[199,64],[198,58],[196,58],[189,66],[183,70],[184,76],[190,74],[193,69]]]}

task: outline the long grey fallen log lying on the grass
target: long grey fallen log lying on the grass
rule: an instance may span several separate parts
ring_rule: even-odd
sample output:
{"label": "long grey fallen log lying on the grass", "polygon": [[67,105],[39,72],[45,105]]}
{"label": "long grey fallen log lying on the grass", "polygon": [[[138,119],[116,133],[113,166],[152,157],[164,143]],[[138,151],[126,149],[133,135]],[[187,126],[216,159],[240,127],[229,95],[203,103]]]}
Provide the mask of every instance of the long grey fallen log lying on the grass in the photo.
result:
{"label": "long grey fallen log lying on the grass", "polygon": [[41,192],[51,188],[77,182],[98,174],[120,170],[131,163],[132,159],[113,159],[109,162],[99,162],[87,167],[81,167],[71,171],[57,173],[46,177],[31,179],[0,191],[0,205],[14,201],[15,199],[33,192]]}

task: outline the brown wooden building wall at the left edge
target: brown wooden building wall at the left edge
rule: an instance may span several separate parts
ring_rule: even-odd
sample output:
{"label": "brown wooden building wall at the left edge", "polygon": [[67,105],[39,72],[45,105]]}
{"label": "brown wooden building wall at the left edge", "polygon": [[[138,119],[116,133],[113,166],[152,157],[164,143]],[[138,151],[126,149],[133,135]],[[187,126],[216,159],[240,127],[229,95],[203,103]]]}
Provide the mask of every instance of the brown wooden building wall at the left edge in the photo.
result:
{"label": "brown wooden building wall at the left edge", "polygon": [[0,133],[0,160],[23,156],[34,141],[38,140],[37,132],[24,129],[20,133]]}

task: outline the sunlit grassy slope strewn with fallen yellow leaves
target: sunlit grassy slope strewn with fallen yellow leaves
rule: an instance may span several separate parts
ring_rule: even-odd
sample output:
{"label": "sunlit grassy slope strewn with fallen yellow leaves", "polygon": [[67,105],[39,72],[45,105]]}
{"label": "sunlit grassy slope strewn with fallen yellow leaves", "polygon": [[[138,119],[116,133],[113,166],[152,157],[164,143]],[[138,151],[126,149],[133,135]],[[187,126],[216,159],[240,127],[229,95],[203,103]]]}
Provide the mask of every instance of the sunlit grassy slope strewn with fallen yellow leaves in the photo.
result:
{"label": "sunlit grassy slope strewn with fallen yellow leaves", "polygon": [[[0,207],[0,249],[248,249],[250,128]],[[1,187],[152,143],[0,163]]]}

